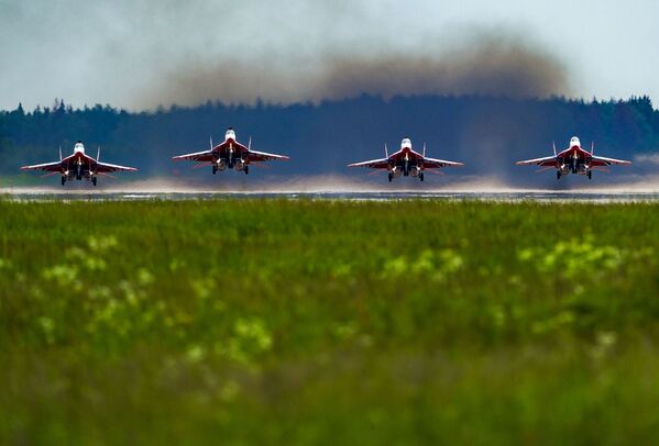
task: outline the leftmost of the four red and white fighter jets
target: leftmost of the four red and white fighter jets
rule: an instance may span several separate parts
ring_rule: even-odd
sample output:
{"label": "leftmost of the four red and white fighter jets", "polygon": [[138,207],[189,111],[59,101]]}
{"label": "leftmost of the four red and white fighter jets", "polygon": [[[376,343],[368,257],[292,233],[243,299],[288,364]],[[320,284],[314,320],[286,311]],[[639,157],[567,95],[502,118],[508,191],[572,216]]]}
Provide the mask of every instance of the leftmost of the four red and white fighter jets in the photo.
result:
{"label": "leftmost of the four red and white fighter jets", "polygon": [[62,175],[62,186],[67,180],[87,180],[91,181],[96,186],[99,176],[111,177],[110,174],[116,171],[135,171],[134,167],[118,166],[116,164],[101,163],[100,159],[101,149],[98,148],[96,158],[85,154],[85,145],[81,141],[78,141],[74,146],[74,154],[62,157],[62,148],[59,148],[59,160],[54,163],[35,164],[33,166],[23,166],[21,170],[44,170],[53,175]]}

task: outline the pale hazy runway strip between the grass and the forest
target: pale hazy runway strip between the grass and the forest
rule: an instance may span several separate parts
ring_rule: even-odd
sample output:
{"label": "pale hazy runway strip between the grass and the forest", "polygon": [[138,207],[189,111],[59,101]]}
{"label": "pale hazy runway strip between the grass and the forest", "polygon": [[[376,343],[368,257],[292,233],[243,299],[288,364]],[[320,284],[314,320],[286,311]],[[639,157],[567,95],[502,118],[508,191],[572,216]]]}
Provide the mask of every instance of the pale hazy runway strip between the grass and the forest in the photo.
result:
{"label": "pale hazy runway strip between the grass and the forest", "polygon": [[145,201],[145,200],[482,200],[535,202],[626,203],[659,201],[659,177],[626,178],[608,183],[562,183],[551,187],[515,187],[496,178],[464,178],[444,185],[377,183],[341,176],[272,178],[257,182],[222,181],[188,183],[185,180],[99,185],[73,183],[67,187],[30,185],[1,187],[0,198],[13,201]]}

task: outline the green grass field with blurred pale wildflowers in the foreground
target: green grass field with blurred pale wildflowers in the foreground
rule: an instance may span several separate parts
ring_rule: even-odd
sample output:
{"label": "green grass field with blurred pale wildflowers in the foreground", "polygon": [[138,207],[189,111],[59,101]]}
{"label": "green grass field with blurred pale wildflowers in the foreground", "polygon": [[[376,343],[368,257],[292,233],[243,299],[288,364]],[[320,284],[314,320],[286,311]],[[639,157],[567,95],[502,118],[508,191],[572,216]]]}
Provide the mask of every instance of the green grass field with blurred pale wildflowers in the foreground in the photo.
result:
{"label": "green grass field with blurred pale wildflowers in the foreground", "polygon": [[0,200],[0,444],[647,444],[659,204]]}

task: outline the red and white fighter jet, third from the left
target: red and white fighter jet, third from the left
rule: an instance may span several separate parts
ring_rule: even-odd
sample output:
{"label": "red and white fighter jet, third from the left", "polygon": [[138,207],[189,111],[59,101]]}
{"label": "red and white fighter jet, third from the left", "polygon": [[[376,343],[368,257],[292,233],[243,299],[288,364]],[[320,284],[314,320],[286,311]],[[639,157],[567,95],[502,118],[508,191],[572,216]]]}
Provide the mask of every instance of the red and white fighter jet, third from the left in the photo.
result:
{"label": "red and white fighter jet, third from the left", "polygon": [[388,154],[386,144],[384,145],[384,158],[371,159],[370,161],[349,164],[348,167],[367,167],[370,169],[387,169],[388,178],[392,181],[394,178],[403,175],[404,177],[417,177],[424,181],[424,171],[428,169],[440,169],[442,167],[459,167],[464,166],[462,163],[447,161],[443,159],[426,157],[426,144],[424,144],[424,153],[419,154],[411,149],[411,141],[408,137],[400,142],[400,149],[396,153]]}

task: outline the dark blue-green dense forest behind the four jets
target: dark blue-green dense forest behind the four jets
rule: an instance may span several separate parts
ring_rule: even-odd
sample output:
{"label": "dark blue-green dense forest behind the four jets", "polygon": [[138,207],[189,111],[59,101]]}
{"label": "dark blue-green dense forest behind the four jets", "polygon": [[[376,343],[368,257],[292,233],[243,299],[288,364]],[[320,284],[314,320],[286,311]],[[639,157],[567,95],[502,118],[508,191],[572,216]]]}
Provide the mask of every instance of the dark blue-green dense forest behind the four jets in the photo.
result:
{"label": "dark blue-green dense forest behind the four jets", "polygon": [[19,166],[55,160],[58,146],[67,154],[83,140],[94,155],[101,146],[103,160],[139,167],[140,179],[199,177],[200,170],[169,157],[207,148],[209,136],[220,141],[228,126],[237,129],[240,141],[251,136],[255,149],[292,157],[267,170],[268,176],[360,175],[345,165],[380,157],[385,142],[397,148],[406,135],[416,148],[426,142],[430,156],[466,163],[461,174],[515,178],[528,177],[532,169],[515,167],[514,160],[549,155],[552,141],[561,148],[572,135],[589,147],[595,142],[596,153],[604,156],[634,159],[659,152],[659,111],[647,97],[603,102],[363,96],[292,105],[209,101],[139,113],[100,104],[74,109],[56,100],[51,108],[25,111],[19,104],[0,112],[0,175],[26,175]]}

